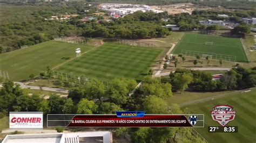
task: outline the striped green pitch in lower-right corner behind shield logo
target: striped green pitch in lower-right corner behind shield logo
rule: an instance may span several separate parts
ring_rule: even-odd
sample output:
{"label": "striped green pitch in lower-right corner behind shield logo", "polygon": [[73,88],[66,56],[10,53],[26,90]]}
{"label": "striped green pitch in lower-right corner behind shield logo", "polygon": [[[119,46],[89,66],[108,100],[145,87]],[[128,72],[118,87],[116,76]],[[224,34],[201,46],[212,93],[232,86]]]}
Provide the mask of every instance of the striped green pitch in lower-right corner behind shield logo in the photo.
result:
{"label": "striped green pitch in lower-right corner behind shield logo", "polygon": [[[205,127],[195,128],[208,142],[255,142],[256,141],[256,89],[246,93],[235,93],[213,101],[187,106],[191,113],[205,115]],[[220,126],[212,119],[210,111],[215,105],[231,105],[235,117],[227,126],[238,126],[237,133],[209,133],[208,126]]]}

